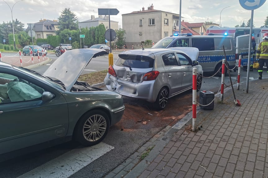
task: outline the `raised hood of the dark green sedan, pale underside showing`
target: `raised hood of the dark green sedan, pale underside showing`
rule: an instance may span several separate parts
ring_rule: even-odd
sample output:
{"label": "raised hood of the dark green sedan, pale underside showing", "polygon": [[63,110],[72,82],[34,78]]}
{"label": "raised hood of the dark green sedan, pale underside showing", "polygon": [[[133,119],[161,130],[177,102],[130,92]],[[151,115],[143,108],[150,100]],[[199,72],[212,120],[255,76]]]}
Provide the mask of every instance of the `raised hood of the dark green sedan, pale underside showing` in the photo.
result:
{"label": "raised hood of the dark green sedan, pale underside showing", "polygon": [[75,84],[92,57],[108,54],[103,49],[72,49],[63,53],[44,75],[59,79],[67,91]]}

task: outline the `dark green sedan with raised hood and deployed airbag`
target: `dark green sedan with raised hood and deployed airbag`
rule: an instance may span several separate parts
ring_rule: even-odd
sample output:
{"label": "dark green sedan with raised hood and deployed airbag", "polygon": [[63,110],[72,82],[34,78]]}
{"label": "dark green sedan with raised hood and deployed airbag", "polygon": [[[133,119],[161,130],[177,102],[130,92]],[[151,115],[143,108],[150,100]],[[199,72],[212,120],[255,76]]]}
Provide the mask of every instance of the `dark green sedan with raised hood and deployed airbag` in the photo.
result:
{"label": "dark green sedan with raised hood and deployed airbag", "polygon": [[123,98],[77,79],[102,53],[67,51],[44,74],[0,61],[0,155],[71,139],[84,146],[101,142],[122,118]]}

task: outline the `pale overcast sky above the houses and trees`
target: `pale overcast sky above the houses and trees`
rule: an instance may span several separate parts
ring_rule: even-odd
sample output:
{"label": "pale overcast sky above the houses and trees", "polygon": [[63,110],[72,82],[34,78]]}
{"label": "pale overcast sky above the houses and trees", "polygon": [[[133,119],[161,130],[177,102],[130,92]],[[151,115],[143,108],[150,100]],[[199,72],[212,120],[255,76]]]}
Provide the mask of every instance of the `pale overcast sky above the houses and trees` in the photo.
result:
{"label": "pale overcast sky above the houses and trees", "polygon": [[[40,19],[57,20],[61,12],[65,8],[70,8],[74,12],[79,21],[89,20],[91,15],[98,16],[98,8],[116,8],[118,15],[111,15],[111,20],[118,21],[119,27],[122,28],[122,14],[133,11],[142,10],[152,5],[155,10],[161,10],[179,14],[179,0],[5,0],[9,6],[13,7],[13,20],[18,19],[25,24],[36,23]],[[244,0],[246,1],[246,0]],[[254,2],[254,0],[248,0]],[[260,1],[260,0],[256,0]],[[228,7],[231,6],[231,7]],[[205,21],[213,21],[221,23],[222,26],[234,27],[247,23],[251,17],[251,11],[243,9],[239,0],[182,0],[181,16],[182,20],[189,23],[200,23]],[[228,7],[228,8],[225,8]],[[254,10],[253,23],[255,27],[264,25],[266,16],[268,16],[268,2],[260,8]],[[223,10],[223,8],[225,8]],[[221,19],[220,19],[220,11]],[[11,10],[7,4],[0,0],[0,23],[11,21]]]}

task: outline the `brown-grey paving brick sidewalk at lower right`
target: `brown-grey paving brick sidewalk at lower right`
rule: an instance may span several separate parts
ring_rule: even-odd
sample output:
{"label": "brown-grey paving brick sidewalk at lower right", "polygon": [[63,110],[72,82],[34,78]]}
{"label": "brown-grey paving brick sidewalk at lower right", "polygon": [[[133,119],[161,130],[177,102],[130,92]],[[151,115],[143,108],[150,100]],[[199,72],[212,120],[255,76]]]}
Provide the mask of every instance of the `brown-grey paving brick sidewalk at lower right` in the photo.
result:
{"label": "brown-grey paving brick sidewalk at lower right", "polygon": [[198,112],[198,126],[202,126],[198,132],[188,131],[190,120],[170,141],[161,142],[162,137],[147,143],[162,146],[158,153],[150,153],[138,164],[143,146],[106,177],[268,177],[268,79],[249,82],[248,93],[246,83],[234,90],[241,106],[234,104],[232,90],[225,89],[223,103],[218,97],[213,110]]}

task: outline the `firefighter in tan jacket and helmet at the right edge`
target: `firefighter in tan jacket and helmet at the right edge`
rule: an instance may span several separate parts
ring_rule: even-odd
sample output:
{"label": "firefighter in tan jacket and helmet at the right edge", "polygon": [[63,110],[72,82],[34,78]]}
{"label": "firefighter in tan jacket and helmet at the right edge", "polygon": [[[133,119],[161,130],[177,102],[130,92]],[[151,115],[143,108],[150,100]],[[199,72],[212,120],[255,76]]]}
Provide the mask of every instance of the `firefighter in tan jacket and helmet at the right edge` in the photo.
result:
{"label": "firefighter in tan jacket and helmet at the right edge", "polygon": [[[262,69],[264,66],[264,62],[267,63],[268,62],[268,33],[264,33],[263,34],[263,41],[261,43],[259,43],[259,46],[257,48],[256,51],[256,59],[259,59],[259,79],[262,78]],[[267,66],[268,67],[268,66]],[[268,72],[268,71],[267,71]]]}

